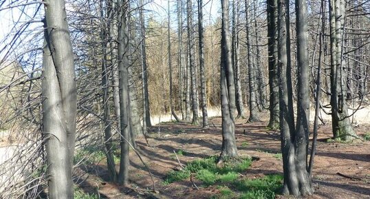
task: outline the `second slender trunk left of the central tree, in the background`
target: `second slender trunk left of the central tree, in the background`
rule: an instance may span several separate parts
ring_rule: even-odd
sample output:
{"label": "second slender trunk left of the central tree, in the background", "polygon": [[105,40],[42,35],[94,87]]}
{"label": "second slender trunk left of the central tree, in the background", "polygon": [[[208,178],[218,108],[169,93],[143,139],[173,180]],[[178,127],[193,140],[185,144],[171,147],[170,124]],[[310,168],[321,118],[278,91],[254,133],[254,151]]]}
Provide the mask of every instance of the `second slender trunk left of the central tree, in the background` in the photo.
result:
{"label": "second slender trunk left of the central tree, in the background", "polygon": [[193,3],[192,0],[186,1],[186,10],[188,14],[187,26],[188,26],[188,56],[189,56],[189,69],[191,76],[191,105],[193,112],[193,125],[199,124],[198,118],[198,97],[197,97],[197,79],[196,79],[196,65],[195,65],[195,37],[193,28]]}

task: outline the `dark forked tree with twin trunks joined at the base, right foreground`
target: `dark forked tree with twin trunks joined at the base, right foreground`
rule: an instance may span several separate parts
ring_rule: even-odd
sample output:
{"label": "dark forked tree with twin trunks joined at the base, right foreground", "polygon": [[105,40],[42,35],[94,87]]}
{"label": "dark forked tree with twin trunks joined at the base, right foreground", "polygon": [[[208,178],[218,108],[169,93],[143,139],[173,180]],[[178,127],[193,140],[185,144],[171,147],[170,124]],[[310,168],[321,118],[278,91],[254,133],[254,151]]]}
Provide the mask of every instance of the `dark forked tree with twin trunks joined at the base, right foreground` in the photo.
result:
{"label": "dark forked tree with twin trunks joined at the base, right foreground", "polygon": [[281,151],[283,154],[284,184],[283,194],[305,196],[313,193],[307,167],[309,135],[309,64],[307,43],[306,4],[296,0],[296,37],[298,65],[297,122],[294,127],[292,84],[290,67],[289,1],[279,0],[279,105]]}

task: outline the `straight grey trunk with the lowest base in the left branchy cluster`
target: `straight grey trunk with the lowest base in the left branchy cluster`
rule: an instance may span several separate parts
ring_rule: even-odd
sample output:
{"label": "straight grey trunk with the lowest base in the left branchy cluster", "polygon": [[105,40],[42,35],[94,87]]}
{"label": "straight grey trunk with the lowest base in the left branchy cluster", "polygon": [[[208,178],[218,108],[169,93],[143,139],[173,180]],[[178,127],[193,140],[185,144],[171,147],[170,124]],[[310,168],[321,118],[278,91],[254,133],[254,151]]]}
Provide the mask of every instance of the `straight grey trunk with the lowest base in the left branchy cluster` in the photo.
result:
{"label": "straight grey trunk with the lowest base in the left branchy cluster", "polygon": [[122,185],[129,183],[129,30],[128,30],[128,0],[118,3],[118,69],[120,72],[120,172],[118,182]]}

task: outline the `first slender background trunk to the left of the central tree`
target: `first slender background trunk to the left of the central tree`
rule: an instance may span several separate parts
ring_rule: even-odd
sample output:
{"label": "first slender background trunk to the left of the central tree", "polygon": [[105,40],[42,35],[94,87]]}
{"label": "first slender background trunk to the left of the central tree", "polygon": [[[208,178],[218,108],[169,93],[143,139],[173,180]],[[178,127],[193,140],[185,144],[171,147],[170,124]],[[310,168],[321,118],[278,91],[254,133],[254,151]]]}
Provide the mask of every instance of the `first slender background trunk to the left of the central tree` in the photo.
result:
{"label": "first slender background trunk to the left of the central tree", "polygon": [[199,63],[200,63],[200,93],[203,116],[203,127],[208,127],[206,79],[204,74],[204,28],[203,28],[203,1],[198,0],[198,33],[199,33]]}

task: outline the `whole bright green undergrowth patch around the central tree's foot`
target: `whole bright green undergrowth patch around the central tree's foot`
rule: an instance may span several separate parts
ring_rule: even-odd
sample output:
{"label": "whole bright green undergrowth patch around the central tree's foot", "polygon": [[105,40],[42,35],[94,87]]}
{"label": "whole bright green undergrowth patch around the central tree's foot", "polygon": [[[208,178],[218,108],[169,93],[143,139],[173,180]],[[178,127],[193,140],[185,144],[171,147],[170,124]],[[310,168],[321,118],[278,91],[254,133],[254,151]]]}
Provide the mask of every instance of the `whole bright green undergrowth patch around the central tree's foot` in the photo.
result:
{"label": "whole bright green undergrowth patch around the central tree's foot", "polygon": [[275,194],[281,189],[283,177],[280,174],[267,175],[254,180],[240,179],[241,173],[252,164],[251,158],[228,159],[222,165],[216,165],[216,160],[216,156],[193,160],[181,171],[170,171],[164,180],[164,185],[190,179],[193,174],[203,186],[219,186],[219,194],[211,197],[214,199],[275,198]]}

